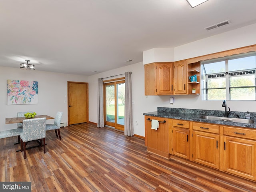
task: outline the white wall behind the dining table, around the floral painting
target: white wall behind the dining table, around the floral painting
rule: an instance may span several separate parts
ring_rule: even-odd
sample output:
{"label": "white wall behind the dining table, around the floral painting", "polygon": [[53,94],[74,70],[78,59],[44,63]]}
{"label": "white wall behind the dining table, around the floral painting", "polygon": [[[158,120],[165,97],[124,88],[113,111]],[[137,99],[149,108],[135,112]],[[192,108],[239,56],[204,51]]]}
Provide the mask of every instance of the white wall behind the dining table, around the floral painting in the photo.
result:
{"label": "white wall behind the dining table, around the floral painting", "polygon": [[[7,80],[38,81],[38,104],[7,105]],[[45,71],[26,71],[17,68],[0,67],[0,131],[17,128],[17,124],[5,124],[5,118],[16,117],[17,112],[34,111],[38,115],[55,117],[57,111],[63,112],[62,122],[68,121],[67,82],[88,82],[87,76],[53,73]],[[66,97],[65,97],[66,96]],[[53,123],[54,120],[46,120]]]}

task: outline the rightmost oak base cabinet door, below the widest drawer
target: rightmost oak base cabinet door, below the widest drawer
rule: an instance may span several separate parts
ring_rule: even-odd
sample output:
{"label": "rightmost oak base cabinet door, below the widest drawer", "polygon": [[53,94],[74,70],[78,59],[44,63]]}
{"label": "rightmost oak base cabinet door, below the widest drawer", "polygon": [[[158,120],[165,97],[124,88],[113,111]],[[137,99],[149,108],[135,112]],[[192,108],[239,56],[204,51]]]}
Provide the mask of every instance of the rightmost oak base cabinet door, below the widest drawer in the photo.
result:
{"label": "rightmost oak base cabinet door, below the widest drawer", "polygon": [[224,136],[224,171],[256,179],[256,141]]}

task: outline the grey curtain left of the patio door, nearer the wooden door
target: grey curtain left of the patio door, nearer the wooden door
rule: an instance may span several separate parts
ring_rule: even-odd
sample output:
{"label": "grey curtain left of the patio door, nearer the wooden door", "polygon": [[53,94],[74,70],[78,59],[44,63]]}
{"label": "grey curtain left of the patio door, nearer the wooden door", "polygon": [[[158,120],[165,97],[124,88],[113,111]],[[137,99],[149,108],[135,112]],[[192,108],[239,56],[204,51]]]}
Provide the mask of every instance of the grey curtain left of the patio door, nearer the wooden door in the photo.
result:
{"label": "grey curtain left of the patio door, nearer the wooden door", "polygon": [[98,78],[97,127],[104,127],[103,114],[103,79]]}

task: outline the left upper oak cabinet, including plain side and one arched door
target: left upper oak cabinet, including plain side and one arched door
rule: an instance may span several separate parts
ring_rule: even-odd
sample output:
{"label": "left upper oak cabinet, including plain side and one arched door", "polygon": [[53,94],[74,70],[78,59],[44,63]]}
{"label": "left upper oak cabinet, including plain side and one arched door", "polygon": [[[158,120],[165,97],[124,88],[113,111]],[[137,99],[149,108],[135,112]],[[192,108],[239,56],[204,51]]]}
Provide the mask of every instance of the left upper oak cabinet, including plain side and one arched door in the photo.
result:
{"label": "left upper oak cabinet, including plain side and one arched door", "polygon": [[145,95],[173,94],[173,62],[146,64],[144,71]]}

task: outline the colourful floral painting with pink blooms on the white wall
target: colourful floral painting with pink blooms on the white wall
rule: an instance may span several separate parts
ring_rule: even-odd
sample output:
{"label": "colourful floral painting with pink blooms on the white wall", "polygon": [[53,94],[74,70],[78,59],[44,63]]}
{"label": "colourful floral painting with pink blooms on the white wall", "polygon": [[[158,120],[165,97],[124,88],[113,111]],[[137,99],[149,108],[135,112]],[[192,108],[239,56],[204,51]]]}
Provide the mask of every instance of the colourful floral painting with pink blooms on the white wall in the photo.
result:
{"label": "colourful floral painting with pink blooms on the white wall", "polygon": [[7,80],[7,105],[38,104],[38,82]]}

